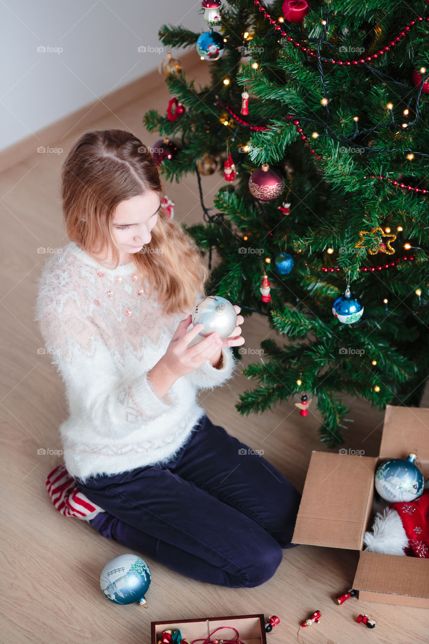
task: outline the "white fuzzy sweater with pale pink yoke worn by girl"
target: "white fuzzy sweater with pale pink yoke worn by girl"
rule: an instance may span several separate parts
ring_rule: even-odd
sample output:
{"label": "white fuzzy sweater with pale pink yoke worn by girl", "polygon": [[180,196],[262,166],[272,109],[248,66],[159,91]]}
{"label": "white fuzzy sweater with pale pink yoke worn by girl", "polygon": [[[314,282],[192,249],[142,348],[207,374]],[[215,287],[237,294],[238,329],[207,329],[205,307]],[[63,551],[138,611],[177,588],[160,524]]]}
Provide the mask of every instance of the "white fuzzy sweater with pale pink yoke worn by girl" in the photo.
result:
{"label": "white fuzzy sweater with pale pink yoke worn by girl", "polygon": [[66,386],[68,472],[86,479],[169,460],[204,414],[197,389],[233,376],[231,347],[222,368],[207,360],[160,399],[146,376],[186,315],[163,316],[133,262],[106,269],[74,242],[61,250],[43,267],[34,319]]}

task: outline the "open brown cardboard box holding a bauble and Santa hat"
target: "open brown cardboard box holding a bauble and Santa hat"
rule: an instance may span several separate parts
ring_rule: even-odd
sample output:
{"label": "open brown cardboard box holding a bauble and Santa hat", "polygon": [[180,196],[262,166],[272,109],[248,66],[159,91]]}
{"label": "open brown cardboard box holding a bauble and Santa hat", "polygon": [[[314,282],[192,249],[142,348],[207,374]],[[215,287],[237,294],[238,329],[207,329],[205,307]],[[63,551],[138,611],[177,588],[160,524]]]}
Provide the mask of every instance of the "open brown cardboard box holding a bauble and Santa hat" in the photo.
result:
{"label": "open brown cardboard box holding a bauble and Santa hat", "polygon": [[292,542],[359,550],[352,588],[361,600],[429,608],[429,559],[363,552],[376,468],[412,451],[428,477],[429,409],[392,405],[386,406],[378,457],[313,451]]}

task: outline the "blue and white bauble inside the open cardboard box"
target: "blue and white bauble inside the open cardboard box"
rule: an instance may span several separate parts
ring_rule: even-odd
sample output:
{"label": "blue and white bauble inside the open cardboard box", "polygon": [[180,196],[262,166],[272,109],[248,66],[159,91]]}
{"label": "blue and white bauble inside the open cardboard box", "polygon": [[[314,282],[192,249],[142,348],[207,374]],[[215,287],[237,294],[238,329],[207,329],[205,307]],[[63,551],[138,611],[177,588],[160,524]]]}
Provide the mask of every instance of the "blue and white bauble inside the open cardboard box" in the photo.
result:
{"label": "blue and white bauble inside the open cardboard box", "polygon": [[415,454],[407,459],[390,459],[376,471],[375,485],[380,497],[390,503],[414,501],[423,493],[423,474],[414,464]]}

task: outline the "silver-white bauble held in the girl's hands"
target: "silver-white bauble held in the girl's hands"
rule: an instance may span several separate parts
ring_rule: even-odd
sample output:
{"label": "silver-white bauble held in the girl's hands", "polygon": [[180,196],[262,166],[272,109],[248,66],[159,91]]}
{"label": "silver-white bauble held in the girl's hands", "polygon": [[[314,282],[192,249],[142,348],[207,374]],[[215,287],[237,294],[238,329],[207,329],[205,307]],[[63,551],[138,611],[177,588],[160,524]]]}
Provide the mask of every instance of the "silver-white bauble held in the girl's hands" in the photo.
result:
{"label": "silver-white bauble held in the girl's hands", "polygon": [[209,295],[202,299],[192,312],[192,325],[204,324],[204,328],[187,346],[193,346],[203,337],[216,332],[223,340],[231,336],[237,326],[237,314],[231,302],[220,295]]}

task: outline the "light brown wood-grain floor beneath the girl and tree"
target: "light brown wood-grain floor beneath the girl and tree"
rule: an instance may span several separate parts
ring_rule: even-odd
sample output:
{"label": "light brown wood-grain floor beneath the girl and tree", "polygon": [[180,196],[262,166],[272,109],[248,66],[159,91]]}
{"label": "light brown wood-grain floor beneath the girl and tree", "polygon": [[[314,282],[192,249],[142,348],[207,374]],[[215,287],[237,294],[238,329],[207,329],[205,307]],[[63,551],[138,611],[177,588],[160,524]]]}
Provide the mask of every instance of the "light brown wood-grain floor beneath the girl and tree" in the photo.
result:
{"label": "light brown wood-grain floor beneath the girl and tree", "polygon": [[[199,62],[199,61],[198,61]],[[208,81],[207,68],[198,64],[189,74]],[[144,82],[142,82],[144,88]],[[346,591],[354,577],[357,553],[300,546],[285,551],[274,578],[253,589],[225,589],[194,582],[146,557],[153,581],[148,609],[120,607],[100,591],[100,572],[111,558],[126,552],[121,545],[102,538],[86,522],[64,518],[53,508],[45,489],[46,473],[61,461],[55,455],[38,455],[40,448],[61,448],[57,428],[66,415],[64,386],[50,365],[33,323],[35,279],[47,254],[37,249],[62,247],[64,234],[59,197],[61,164],[73,141],[87,129],[128,129],[152,145],[157,138],[142,128],[149,108],[164,111],[169,94],[160,77],[159,87],[133,102],[124,102],[115,113],[95,122],[82,121],[82,129],[51,142],[64,152],[37,154],[0,175],[3,213],[1,236],[1,451],[3,501],[2,626],[4,644],[71,644],[96,641],[104,644],[149,644],[151,620],[180,620],[204,616],[276,614],[281,625],[267,639],[269,644],[296,641],[301,620],[319,609],[319,625],[301,631],[308,644],[406,644],[427,641],[428,612],[395,605],[363,603],[356,599],[337,606],[332,597]],[[222,173],[203,177],[206,205],[213,205],[224,185]],[[176,204],[179,222],[202,220],[195,176],[174,185],[165,194]],[[258,348],[265,337],[276,337],[263,316],[245,319],[247,347]],[[243,364],[248,361],[243,357]],[[315,406],[300,417],[294,401],[263,415],[243,417],[234,403],[251,387],[238,374],[229,386],[202,393],[200,403],[216,424],[221,424],[285,473],[299,489],[312,450],[325,450],[319,442],[319,417]],[[377,455],[383,412],[365,401],[345,398],[350,405],[346,448],[365,449]],[[424,397],[425,406],[429,397]],[[352,500],[350,500],[352,502]],[[220,527],[222,529],[222,527]],[[142,554],[142,553],[138,553]],[[371,613],[376,632],[356,623],[357,614]]]}

